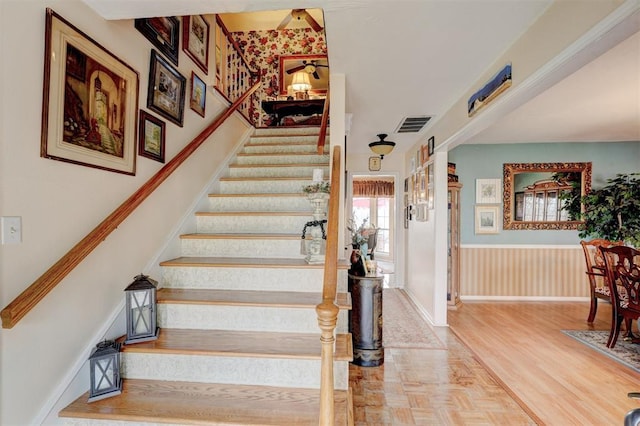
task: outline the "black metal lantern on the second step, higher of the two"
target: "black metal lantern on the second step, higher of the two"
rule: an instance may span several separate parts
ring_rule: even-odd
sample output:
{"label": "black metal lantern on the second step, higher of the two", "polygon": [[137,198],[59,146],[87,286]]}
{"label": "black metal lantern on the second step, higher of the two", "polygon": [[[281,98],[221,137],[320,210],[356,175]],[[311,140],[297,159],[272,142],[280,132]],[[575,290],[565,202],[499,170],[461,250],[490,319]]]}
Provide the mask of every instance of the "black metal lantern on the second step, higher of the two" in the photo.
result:
{"label": "black metal lantern on the second step, higher of the two", "polygon": [[125,343],[146,342],[158,338],[156,284],[156,281],[140,274],[124,290],[127,298]]}

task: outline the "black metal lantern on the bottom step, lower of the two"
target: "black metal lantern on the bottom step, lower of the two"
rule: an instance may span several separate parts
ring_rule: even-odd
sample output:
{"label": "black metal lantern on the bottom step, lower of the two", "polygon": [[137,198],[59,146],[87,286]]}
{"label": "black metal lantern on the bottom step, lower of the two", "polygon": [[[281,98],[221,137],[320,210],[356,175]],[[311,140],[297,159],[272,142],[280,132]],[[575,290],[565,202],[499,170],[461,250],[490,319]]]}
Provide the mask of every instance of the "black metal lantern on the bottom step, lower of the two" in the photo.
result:
{"label": "black metal lantern on the bottom step, lower of the two", "polygon": [[120,379],[120,343],[105,340],[96,345],[89,357],[91,388],[89,402],[122,393]]}

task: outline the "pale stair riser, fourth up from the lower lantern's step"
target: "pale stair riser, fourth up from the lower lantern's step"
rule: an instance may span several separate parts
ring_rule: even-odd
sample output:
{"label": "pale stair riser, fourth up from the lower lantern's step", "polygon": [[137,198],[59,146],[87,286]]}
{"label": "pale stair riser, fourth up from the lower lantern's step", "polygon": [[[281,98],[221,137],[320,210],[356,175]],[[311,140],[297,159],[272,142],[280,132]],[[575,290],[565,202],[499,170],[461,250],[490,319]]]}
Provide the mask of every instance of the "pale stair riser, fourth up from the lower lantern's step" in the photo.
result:
{"label": "pale stair riser, fourth up from the lower lantern's step", "polygon": [[183,256],[302,258],[301,239],[182,239]]}

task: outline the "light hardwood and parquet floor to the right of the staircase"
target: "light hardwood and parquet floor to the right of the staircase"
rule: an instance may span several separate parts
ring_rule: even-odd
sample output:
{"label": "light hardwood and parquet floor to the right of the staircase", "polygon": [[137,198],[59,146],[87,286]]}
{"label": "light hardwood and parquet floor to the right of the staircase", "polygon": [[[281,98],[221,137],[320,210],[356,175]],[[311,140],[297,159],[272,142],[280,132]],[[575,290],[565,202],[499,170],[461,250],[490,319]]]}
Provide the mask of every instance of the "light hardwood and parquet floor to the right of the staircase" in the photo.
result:
{"label": "light hardwood and parquet floor to the right of the staircase", "polygon": [[609,305],[593,326],[588,311],[465,302],[435,330],[446,349],[385,348],[383,366],[350,366],[355,424],[622,424],[639,407],[627,393],[640,390],[640,374],[561,332],[609,329]]}

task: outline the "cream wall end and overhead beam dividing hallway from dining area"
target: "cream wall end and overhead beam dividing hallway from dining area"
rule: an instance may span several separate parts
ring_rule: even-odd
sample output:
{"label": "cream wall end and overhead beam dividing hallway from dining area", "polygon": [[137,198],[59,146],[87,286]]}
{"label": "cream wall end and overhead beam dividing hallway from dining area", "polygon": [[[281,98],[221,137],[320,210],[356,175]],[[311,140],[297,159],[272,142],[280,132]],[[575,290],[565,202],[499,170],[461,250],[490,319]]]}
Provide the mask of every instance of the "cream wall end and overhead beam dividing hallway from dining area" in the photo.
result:
{"label": "cream wall end and overhead beam dividing hallway from dining area", "polygon": [[[554,2],[536,23],[528,29],[523,29],[522,37],[515,40],[514,44],[500,58],[497,58],[476,82],[470,83],[466,93],[446,114],[436,117],[424,139],[407,151],[404,169],[409,175],[411,156],[421,145],[427,143],[429,137],[435,136],[436,208],[430,211],[428,222],[411,221],[406,233],[405,249],[407,253],[405,288],[414,301],[423,308],[425,316],[434,324],[446,324],[446,297],[443,295],[446,295],[447,286],[447,263],[443,257],[443,253],[447,252],[447,210],[446,196],[443,196],[446,194],[446,173],[443,170],[446,167],[446,159],[443,160],[438,154],[446,156],[446,151],[464,143],[470,136],[490,125],[492,120],[499,118],[499,114],[493,111],[491,114],[488,111],[482,111],[470,120],[467,113],[467,99],[508,62],[511,62],[513,69],[517,70],[517,73],[514,72],[513,84],[509,91],[517,91],[527,79],[543,66],[554,61],[559,54],[622,3],[620,0]],[[591,40],[591,42],[596,43],[597,40]],[[597,52],[592,54],[597,55]],[[545,78],[552,79],[554,76],[545,75],[537,78],[542,82]],[[539,91],[544,90],[544,84],[538,86]],[[538,93],[530,90],[525,93],[528,96],[526,99],[526,96],[512,97],[509,101],[511,103],[502,103],[504,108],[500,111],[517,108]],[[493,103],[500,103],[506,97],[503,94]],[[461,183],[473,184],[472,182]],[[469,273],[473,272],[471,270]]]}

